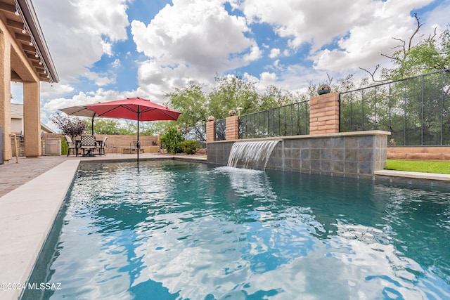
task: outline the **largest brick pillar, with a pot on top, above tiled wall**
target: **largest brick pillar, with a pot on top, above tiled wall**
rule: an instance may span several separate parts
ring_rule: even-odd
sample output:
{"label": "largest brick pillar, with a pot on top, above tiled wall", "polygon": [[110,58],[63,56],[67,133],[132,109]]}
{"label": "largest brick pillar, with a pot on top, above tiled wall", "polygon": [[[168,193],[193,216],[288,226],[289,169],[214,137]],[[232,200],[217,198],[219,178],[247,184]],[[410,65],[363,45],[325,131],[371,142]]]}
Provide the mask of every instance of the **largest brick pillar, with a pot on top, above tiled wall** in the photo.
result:
{"label": "largest brick pillar, with a pot on top, above tiled wall", "polygon": [[339,133],[339,93],[309,100],[309,134]]}

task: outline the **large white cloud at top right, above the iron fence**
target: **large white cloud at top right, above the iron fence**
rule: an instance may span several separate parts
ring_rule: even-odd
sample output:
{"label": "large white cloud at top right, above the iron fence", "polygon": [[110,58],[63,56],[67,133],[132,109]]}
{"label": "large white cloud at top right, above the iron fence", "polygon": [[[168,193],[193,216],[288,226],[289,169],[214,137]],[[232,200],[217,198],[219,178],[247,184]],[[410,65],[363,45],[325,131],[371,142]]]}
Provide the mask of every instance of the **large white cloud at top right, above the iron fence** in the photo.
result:
{"label": "large white cloud at top right, above the iron fence", "polygon": [[[246,0],[240,4],[234,1],[233,7],[242,9],[251,22],[272,25],[279,37],[288,38],[285,56],[309,43],[309,59],[316,69],[352,72],[359,66],[383,61],[380,53],[390,51],[398,43],[392,37],[406,38],[414,30],[415,19],[410,12],[431,2]],[[444,13],[440,18],[446,18]],[[338,48],[327,47],[336,43]]]}

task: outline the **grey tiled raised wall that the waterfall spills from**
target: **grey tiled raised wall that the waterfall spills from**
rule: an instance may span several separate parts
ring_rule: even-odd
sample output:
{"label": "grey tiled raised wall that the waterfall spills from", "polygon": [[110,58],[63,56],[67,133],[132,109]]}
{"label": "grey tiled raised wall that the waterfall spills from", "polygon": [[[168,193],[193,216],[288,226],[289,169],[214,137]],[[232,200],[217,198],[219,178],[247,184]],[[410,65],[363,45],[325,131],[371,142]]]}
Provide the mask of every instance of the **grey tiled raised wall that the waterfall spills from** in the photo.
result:
{"label": "grey tiled raised wall that the waterfall spills from", "polygon": [[[387,131],[358,131],[258,140],[214,141],[207,143],[207,162],[226,165],[233,143],[279,141],[269,157],[266,169],[374,178],[374,171],[382,170],[386,165],[389,135]],[[264,169],[261,162],[249,167]]]}

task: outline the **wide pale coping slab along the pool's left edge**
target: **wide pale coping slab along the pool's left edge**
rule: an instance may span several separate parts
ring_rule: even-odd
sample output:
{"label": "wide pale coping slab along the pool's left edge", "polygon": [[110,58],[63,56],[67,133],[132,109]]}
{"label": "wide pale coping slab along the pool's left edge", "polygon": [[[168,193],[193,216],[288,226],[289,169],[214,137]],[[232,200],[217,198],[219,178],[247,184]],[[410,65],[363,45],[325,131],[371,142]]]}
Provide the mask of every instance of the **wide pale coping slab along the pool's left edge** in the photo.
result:
{"label": "wide pale coping slab along the pool's left edge", "polygon": [[[79,168],[66,160],[0,197],[0,299],[19,299]],[[18,251],[16,251],[18,249]],[[9,286],[8,286],[9,285]]]}

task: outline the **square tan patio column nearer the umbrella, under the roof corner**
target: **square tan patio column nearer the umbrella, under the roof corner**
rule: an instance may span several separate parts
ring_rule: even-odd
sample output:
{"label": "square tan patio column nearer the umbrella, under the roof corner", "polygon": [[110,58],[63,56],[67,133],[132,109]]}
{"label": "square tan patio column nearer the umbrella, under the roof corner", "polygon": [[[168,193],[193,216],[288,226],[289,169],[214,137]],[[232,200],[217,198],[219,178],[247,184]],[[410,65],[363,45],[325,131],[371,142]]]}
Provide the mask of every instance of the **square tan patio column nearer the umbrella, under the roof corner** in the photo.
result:
{"label": "square tan patio column nearer the umbrella, under the roof corner", "polygon": [[41,155],[41,101],[39,81],[23,83],[23,136],[25,138],[25,156]]}

